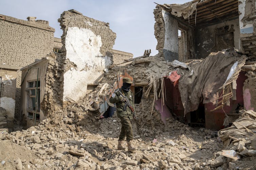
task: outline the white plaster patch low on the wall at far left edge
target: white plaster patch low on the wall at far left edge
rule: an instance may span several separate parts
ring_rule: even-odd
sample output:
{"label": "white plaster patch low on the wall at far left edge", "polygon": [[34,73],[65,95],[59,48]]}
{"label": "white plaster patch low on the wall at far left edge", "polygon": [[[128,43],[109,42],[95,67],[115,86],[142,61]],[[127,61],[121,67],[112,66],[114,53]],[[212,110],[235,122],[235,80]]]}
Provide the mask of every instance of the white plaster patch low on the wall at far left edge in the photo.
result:
{"label": "white plaster patch low on the wall at far left edge", "polygon": [[0,107],[6,110],[7,119],[14,118],[15,111],[15,99],[11,97],[1,97],[0,98]]}

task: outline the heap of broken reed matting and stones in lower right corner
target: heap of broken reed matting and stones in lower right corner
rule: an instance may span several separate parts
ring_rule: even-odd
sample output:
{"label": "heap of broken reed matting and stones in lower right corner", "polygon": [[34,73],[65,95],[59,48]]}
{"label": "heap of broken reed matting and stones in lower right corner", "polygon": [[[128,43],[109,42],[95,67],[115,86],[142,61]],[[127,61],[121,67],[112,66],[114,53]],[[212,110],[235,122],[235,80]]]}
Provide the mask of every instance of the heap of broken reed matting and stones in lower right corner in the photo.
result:
{"label": "heap of broken reed matting and stones in lower right corner", "polygon": [[[223,150],[215,154],[211,167],[221,166],[230,170],[256,168],[256,112],[243,112],[232,126],[218,132]],[[245,161],[249,163],[244,165]]]}

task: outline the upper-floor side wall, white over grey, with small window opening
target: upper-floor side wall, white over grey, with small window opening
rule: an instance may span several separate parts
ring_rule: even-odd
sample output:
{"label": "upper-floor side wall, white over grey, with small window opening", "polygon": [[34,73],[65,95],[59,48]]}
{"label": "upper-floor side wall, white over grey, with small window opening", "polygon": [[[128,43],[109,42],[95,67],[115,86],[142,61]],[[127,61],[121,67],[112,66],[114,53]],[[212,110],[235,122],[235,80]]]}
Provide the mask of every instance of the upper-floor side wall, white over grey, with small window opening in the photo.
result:
{"label": "upper-floor side wall, white over grey, with small window opening", "polygon": [[[194,59],[195,42],[194,42],[194,28],[181,20],[173,17],[159,5],[154,9],[154,35],[157,39],[156,49],[159,54],[169,62],[173,60],[188,60]],[[184,41],[183,55],[179,55],[179,39],[178,30],[182,30],[182,37]]]}

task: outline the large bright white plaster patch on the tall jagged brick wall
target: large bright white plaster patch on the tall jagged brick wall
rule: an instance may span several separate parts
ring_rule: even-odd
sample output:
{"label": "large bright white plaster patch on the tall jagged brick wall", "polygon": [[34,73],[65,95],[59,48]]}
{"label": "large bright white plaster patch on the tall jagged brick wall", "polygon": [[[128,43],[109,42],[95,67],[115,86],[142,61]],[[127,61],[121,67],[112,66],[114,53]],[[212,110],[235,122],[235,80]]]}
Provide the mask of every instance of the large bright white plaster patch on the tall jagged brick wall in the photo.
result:
{"label": "large bright white plaster patch on the tall jagged brick wall", "polygon": [[100,53],[100,35],[90,29],[71,27],[66,35],[66,59],[77,65],[64,74],[63,100],[78,100],[86,95],[87,84],[93,83],[104,69],[111,65],[111,58]]}

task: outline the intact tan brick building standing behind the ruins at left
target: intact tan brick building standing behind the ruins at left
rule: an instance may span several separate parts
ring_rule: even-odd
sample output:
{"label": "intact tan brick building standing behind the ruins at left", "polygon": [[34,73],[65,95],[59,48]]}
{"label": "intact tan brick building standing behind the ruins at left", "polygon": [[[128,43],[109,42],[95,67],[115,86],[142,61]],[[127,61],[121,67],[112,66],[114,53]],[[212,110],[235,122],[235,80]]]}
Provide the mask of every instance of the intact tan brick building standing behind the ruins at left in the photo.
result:
{"label": "intact tan brick building standing behind the ruins at left", "polygon": [[[48,21],[36,20],[36,17],[28,17],[25,21],[0,15],[0,117],[5,125],[7,123],[5,117],[8,117],[8,124],[13,124],[14,118],[19,124],[22,114],[25,114],[24,108],[21,108],[20,69],[52,51],[60,53],[61,39],[54,37],[54,32],[55,29],[49,26]],[[112,52],[113,61],[116,64],[133,57],[131,53],[123,51],[113,50]],[[36,69],[32,72],[34,71]],[[15,91],[13,86],[16,86]]]}

